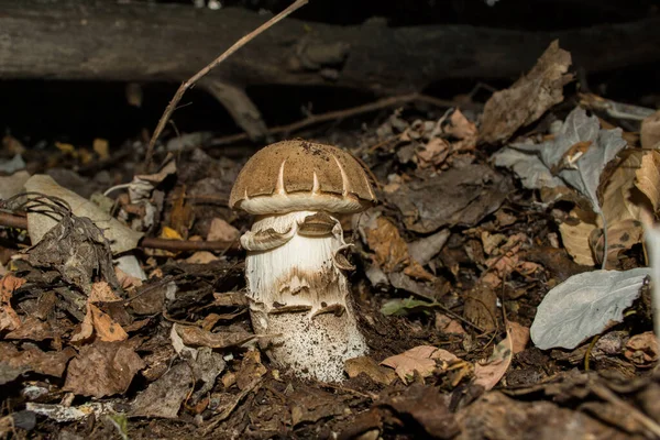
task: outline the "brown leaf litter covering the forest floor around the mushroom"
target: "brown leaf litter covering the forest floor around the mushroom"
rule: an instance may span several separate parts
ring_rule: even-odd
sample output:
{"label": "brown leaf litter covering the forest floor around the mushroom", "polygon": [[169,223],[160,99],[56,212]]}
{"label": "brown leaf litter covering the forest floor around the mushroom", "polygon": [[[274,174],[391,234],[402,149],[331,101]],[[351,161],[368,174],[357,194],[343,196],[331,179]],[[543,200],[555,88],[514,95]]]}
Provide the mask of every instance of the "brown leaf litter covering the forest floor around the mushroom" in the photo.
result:
{"label": "brown leaf litter covering the forest floor around the mushroom", "polygon": [[29,415],[14,429],[76,438],[522,438],[540,419],[552,437],[657,435],[657,113],[638,141],[614,101],[564,100],[571,63],[553,42],[481,114],[403,108],[343,133],[383,201],[342,219],[370,345],[342,383],[292,376],[251,328],[230,245],[251,219],[227,207],[246,153],[188,148],[89,198],[12,162],[2,209],[26,233],[0,228],[0,432]]}

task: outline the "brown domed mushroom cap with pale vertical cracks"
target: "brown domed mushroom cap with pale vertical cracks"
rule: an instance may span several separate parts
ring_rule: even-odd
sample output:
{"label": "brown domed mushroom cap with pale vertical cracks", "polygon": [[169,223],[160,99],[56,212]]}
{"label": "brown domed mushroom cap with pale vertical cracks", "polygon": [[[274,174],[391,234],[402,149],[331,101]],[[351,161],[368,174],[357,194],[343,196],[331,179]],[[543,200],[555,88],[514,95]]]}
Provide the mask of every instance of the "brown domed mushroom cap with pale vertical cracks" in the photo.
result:
{"label": "brown domed mushroom cap with pale vertical cracks", "polygon": [[376,201],[366,173],[349,153],[302,140],[260,150],[234,183],[229,206],[250,213],[359,212]]}

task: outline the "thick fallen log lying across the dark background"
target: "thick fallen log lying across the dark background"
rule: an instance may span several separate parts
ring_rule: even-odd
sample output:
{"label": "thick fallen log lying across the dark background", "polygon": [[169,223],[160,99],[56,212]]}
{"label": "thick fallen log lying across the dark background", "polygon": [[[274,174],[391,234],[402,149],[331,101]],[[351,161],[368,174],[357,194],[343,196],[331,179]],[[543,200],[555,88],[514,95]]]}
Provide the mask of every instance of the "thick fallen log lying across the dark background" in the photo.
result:
{"label": "thick fallen log lying across the dark background", "polygon": [[[0,0],[0,78],[180,81],[264,20],[241,9]],[[660,18],[557,32],[287,19],[209,77],[239,88],[336,85],[405,92],[450,78],[516,78],[554,38],[587,73],[660,61]]]}

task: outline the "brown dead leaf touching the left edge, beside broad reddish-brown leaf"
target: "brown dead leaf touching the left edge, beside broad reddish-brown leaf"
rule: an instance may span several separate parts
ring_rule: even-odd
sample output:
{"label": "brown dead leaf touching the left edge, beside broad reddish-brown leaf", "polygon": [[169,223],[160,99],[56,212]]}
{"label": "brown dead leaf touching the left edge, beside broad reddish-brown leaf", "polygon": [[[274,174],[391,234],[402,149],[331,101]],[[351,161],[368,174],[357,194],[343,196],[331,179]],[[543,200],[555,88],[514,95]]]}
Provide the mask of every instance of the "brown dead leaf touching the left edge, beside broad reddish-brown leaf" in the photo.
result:
{"label": "brown dead leaf touching the left edge, beside broad reddish-brown leaf", "polygon": [[62,377],[68,360],[75,354],[70,346],[57,352],[43,352],[33,344],[24,344],[23,350],[19,350],[12,343],[0,342],[0,385],[28,372]]}

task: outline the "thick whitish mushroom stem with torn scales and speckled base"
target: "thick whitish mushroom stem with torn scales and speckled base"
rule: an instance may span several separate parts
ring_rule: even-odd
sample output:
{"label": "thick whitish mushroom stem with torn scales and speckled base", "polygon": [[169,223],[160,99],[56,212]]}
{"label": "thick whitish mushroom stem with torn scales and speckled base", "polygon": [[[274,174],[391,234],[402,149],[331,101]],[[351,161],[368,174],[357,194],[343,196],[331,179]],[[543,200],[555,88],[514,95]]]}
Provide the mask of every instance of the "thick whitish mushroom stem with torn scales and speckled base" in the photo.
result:
{"label": "thick whitish mushroom stem with torn scales and speckled base", "polygon": [[337,263],[336,254],[345,248],[339,220],[323,213],[327,232],[315,223],[312,235],[301,233],[317,215],[264,216],[241,238],[248,295],[255,332],[280,334],[267,349],[274,363],[301,377],[339,382],[344,361],[367,348]]}

